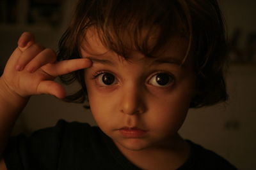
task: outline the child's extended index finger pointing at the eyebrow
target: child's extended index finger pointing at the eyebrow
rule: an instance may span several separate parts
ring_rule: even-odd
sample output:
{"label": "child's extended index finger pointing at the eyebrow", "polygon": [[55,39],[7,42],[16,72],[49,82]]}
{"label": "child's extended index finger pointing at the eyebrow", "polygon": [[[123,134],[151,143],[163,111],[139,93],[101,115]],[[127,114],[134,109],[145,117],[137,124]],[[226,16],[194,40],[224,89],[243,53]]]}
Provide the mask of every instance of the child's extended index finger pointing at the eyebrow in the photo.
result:
{"label": "child's extended index finger pointing at the eyebrow", "polygon": [[72,59],[63,60],[54,64],[47,64],[42,69],[51,76],[60,76],[68,74],[79,69],[85,69],[92,66],[92,60],[90,59]]}

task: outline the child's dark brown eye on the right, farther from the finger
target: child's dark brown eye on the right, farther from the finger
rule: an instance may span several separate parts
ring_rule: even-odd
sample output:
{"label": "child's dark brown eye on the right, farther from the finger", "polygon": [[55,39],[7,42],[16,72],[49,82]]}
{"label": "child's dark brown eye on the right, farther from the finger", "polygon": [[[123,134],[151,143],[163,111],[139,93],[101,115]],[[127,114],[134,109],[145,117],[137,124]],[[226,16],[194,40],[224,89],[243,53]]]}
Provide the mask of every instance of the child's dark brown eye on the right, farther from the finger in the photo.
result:
{"label": "child's dark brown eye on the right, farther from the finger", "polygon": [[165,87],[172,83],[173,78],[167,73],[158,73],[154,75],[152,78],[150,78],[149,83],[158,86],[158,87]]}

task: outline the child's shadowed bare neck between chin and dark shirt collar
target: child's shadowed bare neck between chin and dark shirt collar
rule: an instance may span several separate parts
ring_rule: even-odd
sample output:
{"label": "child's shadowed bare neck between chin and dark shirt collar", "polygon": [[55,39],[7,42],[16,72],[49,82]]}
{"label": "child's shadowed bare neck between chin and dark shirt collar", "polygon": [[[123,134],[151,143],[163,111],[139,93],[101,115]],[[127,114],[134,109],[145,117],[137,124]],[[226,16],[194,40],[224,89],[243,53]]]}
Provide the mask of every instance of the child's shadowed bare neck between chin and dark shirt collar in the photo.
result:
{"label": "child's shadowed bare neck between chin and dark shirt collar", "polygon": [[132,164],[141,169],[177,169],[189,157],[189,144],[182,139],[179,134],[177,138],[170,143],[169,147],[154,147],[145,150],[134,151],[116,145],[125,157]]}

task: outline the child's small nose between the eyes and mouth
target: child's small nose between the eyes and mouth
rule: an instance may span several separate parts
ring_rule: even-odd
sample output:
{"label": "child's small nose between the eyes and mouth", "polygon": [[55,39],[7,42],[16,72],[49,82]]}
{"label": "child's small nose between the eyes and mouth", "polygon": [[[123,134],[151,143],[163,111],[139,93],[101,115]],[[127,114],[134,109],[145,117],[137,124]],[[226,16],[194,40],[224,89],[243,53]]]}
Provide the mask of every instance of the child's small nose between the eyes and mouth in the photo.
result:
{"label": "child's small nose between the eyes and mouth", "polygon": [[[121,89],[120,89],[121,90]],[[131,85],[121,90],[120,112],[133,115],[145,113],[145,91],[136,85]]]}

